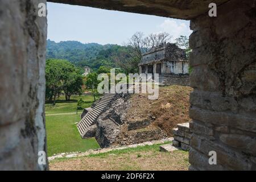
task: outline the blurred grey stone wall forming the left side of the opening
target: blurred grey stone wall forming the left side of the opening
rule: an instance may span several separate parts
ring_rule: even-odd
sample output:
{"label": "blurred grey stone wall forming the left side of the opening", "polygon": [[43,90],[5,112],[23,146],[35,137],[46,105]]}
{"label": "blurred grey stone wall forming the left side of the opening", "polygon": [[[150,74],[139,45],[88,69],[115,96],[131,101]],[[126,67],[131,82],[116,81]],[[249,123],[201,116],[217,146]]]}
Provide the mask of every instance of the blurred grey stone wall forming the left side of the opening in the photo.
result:
{"label": "blurred grey stone wall forming the left side of the opening", "polygon": [[45,170],[46,17],[43,0],[0,0],[0,170]]}

